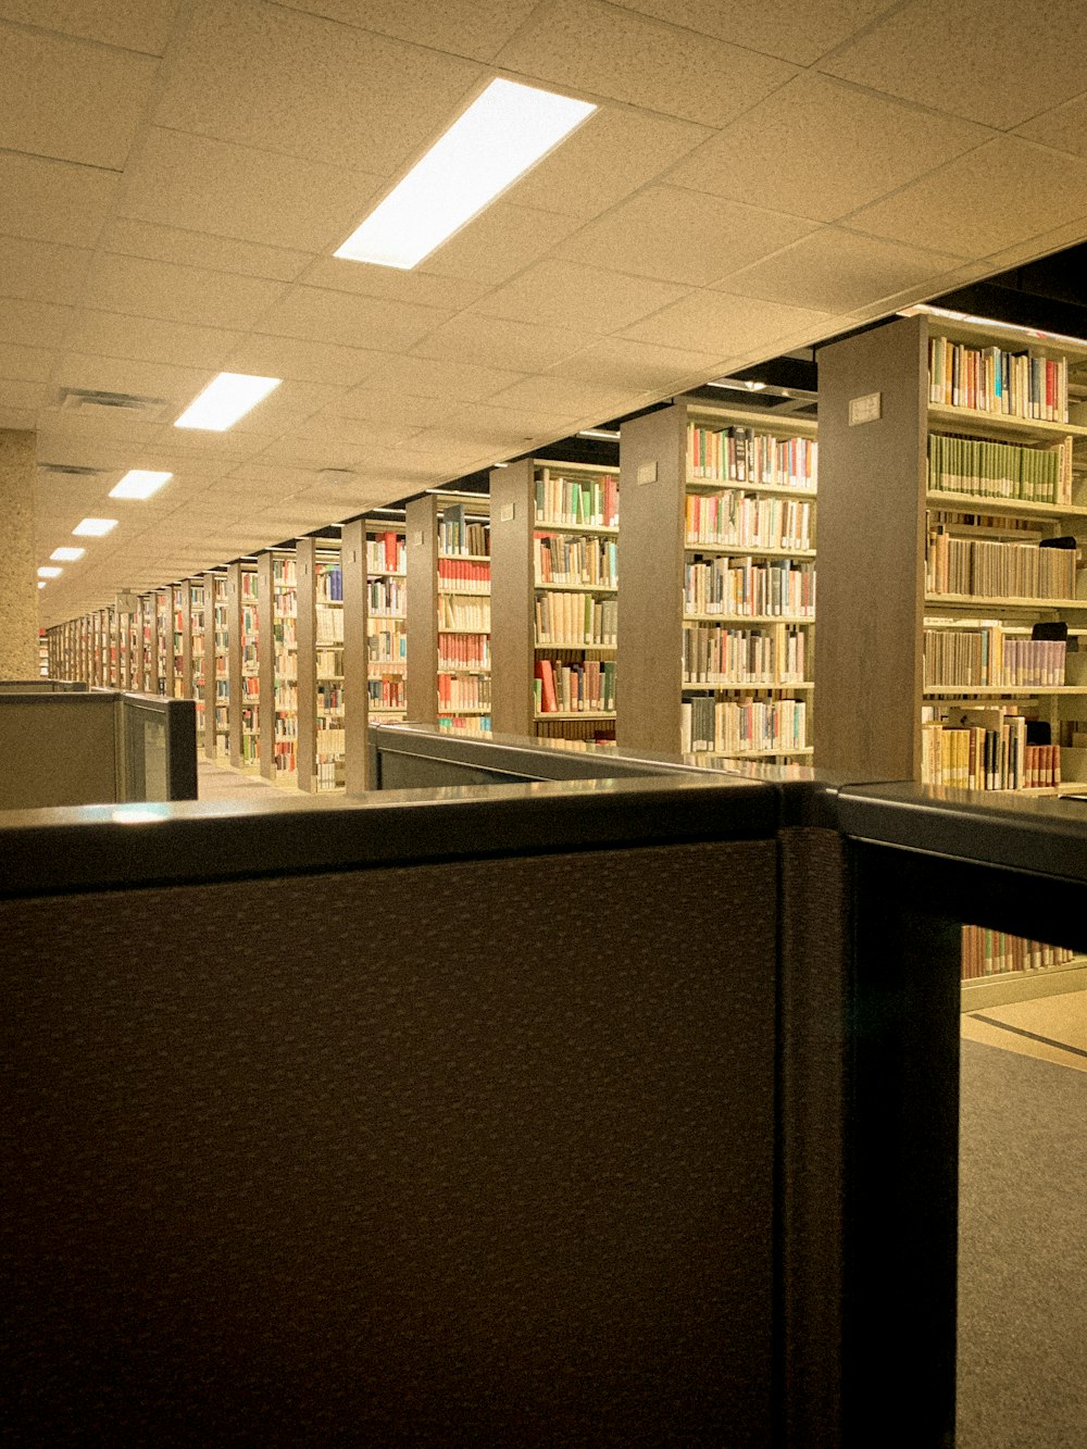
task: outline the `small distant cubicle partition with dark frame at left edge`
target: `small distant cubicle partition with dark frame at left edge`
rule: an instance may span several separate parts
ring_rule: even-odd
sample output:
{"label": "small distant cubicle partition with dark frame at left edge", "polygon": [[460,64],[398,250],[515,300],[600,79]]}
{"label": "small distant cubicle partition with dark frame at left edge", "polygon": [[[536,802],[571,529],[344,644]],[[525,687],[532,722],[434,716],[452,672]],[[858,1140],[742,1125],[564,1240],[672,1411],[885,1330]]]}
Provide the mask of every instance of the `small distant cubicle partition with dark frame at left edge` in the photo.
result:
{"label": "small distant cubicle partition with dark frame at left edge", "polygon": [[42,684],[0,687],[0,810],[196,798],[191,700]]}

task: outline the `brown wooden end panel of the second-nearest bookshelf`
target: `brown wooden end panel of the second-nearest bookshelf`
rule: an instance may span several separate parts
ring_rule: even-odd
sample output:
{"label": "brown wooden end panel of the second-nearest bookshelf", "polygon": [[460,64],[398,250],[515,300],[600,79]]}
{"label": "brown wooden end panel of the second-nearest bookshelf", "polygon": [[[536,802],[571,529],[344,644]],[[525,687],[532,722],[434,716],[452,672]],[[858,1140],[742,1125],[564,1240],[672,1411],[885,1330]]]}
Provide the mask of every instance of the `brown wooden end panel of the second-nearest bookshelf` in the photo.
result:
{"label": "brown wooden end panel of the second-nearest bookshelf", "polygon": [[674,403],[620,427],[616,739],[680,749],[687,409]]}

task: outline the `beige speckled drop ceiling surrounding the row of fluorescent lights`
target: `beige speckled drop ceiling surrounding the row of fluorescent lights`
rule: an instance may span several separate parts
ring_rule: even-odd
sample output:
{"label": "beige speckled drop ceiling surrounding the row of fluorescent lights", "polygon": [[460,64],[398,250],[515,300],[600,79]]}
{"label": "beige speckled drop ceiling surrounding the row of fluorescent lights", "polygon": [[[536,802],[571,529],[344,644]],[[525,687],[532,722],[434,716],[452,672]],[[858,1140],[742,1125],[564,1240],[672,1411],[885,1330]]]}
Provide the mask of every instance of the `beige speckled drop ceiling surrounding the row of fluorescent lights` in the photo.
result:
{"label": "beige speckled drop ceiling surrounding the row of fluorescent lights", "polygon": [[[43,623],[1087,236],[1080,0],[0,0],[0,427]],[[333,251],[494,75],[593,100],[413,272]],[[220,369],[283,377],[181,433]],[[61,407],[65,390],[158,412]],[[129,468],[174,472],[106,503]],[[325,469],[346,469],[330,481]]]}

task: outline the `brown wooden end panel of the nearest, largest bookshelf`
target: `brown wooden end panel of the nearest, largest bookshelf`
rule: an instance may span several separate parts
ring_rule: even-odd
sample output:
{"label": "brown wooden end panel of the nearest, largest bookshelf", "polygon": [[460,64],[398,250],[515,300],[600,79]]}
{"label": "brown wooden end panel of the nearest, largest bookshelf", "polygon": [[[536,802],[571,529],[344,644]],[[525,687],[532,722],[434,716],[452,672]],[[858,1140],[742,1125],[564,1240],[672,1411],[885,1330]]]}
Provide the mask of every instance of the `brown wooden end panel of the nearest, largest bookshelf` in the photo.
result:
{"label": "brown wooden end panel of the nearest, largest bookshelf", "polygon": [[920,778],[926,368],[923,317],[819,352],[815,758],[849,780]]}

